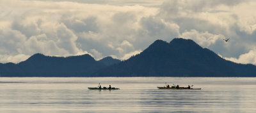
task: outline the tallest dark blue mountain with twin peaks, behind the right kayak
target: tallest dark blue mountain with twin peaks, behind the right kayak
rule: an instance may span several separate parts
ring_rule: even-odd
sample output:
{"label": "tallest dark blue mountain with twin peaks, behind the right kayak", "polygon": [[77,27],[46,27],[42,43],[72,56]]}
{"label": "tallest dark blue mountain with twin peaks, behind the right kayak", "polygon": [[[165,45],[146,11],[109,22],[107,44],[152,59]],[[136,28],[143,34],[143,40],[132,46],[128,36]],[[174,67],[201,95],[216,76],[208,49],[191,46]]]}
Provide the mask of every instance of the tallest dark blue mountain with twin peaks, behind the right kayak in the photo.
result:
{"label": "tallest dark blue mountain with twin peaks, behind the right kayak", "polygon": [[191,39],[157,40],[128,60],[92,76],[256,77],[256,66],[230,62]]}

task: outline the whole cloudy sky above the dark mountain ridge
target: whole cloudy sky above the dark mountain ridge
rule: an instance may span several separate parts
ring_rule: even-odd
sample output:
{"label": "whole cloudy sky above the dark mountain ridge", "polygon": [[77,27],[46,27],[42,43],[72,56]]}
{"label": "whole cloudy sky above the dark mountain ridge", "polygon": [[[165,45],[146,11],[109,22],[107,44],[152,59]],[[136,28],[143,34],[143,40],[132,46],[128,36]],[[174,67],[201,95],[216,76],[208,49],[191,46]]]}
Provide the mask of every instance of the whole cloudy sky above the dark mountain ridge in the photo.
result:
{"label": "whole cloudy sky above the dark mountain ridge", "polygon": [[256,65],[255,6],[253,0],[0,0],[0,62],[35,53],[125,60],[157,39],[182,37]]}

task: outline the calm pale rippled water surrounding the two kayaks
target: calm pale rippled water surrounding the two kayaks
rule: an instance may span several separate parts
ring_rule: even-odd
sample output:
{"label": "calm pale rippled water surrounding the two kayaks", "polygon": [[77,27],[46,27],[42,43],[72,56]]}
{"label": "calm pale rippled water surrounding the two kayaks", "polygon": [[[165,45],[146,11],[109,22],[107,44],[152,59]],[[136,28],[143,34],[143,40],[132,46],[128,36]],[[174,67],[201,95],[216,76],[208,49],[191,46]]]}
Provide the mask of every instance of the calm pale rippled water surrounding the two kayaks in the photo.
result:
{"label": "calm pale rippled water surrounding the two kayaks", "polygon": [[[121,90],[88,90],[99,82]],[[256,112],[256,78],[0,77],[0,112]]]}

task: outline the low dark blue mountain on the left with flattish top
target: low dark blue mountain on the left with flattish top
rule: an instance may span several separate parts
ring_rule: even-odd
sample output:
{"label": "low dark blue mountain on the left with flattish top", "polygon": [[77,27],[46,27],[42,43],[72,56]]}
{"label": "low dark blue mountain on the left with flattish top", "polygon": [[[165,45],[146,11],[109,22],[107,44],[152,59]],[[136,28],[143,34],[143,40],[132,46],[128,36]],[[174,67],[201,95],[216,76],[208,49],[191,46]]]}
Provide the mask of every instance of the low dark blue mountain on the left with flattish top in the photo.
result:
{"label": "low dark blue mountain on the left with flattish top", "polygon": [[4,77],[86,77],[106,67],[90,55],[57,57],[37,53],[20,63],[1,63]]}

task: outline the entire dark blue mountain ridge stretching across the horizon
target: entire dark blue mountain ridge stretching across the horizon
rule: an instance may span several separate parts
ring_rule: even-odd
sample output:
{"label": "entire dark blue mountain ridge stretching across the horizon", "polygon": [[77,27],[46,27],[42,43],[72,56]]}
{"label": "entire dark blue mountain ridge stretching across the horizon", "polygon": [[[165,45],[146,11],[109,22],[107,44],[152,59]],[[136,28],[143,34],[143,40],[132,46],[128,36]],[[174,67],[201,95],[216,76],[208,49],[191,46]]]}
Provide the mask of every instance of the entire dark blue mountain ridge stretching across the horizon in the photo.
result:
{"label": "entire dark blue mountain ridge stretching across the horizon", "polygon": [[92,56],[32,55],[0,63],[1,77],[256,77],[256,66],[234,63],[191,39],[156,40],[138,55],[120,61]]}

